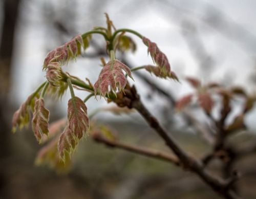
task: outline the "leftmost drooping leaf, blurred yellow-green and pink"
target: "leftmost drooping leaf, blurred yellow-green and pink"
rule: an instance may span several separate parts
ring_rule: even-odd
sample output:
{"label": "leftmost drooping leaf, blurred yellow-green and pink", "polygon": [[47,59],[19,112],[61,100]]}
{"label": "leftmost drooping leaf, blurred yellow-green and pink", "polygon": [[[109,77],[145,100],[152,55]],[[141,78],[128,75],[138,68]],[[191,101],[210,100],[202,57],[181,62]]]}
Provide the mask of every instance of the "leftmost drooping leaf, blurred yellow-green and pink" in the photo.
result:
{"label": "leftmost drooping leaf, blurred yellow-green and pink", "polygon": [[30,95],[25,102],[20,105],[19,109],[13,114],[12,131],[15,132],[17,126],[22,129],[30,121],[29,107],[34,110],[35,97]]}

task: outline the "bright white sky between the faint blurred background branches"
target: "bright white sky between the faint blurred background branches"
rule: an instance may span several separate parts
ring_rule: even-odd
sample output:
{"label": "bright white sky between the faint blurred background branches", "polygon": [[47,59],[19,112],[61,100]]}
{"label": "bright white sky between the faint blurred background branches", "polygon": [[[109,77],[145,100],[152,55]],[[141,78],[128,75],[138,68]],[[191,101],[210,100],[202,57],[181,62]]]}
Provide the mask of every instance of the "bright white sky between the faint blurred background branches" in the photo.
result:
{"label": "bright white sky between the faint blurred background branches", "polygon": [[[61,12],[64,9],[63,5],[65,5],[63,2],[66,1],[38,0],[25,2],[27,3],[21,6],[26,8],[26,11],[21,15],[22,23],[16,34],[15,60],[13,62],[15,70],[13,71],[11,98],[14,103],[18,104],[22,103],[45,80],[45,73],[41,71],[41,66],[47,54],[46,48],[57,47],[54,46],[55,43],[52,42],[51,38],[48,38],[47,32],[43,29],[46,24],[43,18],[44,15],[41,12],[42,6],[47,2],[51,2],[53,3],[53,10]],[[167,55],[172,69],[181,80],[189,75],[199,77],[203,81],[225,82],[230,79],[234,84],[246,86],[248,84],[248,75],[255,71],[254,55],[256,46],[253,46],[253,43],[243,43],[247,41],[246,38],[242,39],[242,43],[234,41],[232,37],[236,35],[232,34],[232,27],[227,27],[227,32],[223,34],[204,23],[202,18],[205,19],[208,16],[209,10],[207,6],[211,5],[221,11],[234,24],[241,25],[249,33],[253,34],[256,32],[256,1],[130,0],[121,3],[121,1],[77,0],[74,2],[77,2],[76,6],[80,9],[79,17],[74,22],[79,31],[89,31],[93,26],[104,26],[105,17],[103,12],[107,12],[116,28],[134,29],[156,42],[158,47]],[[169,6],[163,6],[165,2],[169,2]],[[99,6],[96,5],[97,3],[99,3]],[[91,17],[93,17],[95,24],[92,24]],[[202,77],[198,61],[191,54],[182,35],[182,20],[191,18],[195,21],[200,39],[204,41],[207,53],[215,60],[215,68],[210,71],[209,78]],[[147,56],[146,47],[136,36],[133,38],[138,44],[138,50],[135,55],[128,56],[131,62],[138,66],[151,64],[152,60]],[[98,63],[99,61],[97,60],[92,62],[78,59],[77,63],[71,63],[69,68],[73,68],[72,74],[88,74],[90,80],[94,83],[97,78],[97,72],[94,70]],[[97,70],[100,70],[100,68]],[[166,90],[177,91],[176,97],[188,92],[186,83],[166,83],[166,81],[159,79],[157,81]],[[248,89],[255,90],[255,86],[250,86]],[[143,89],[141,92],[143,92]],[[79,92],[78,95],[80,95]]]}

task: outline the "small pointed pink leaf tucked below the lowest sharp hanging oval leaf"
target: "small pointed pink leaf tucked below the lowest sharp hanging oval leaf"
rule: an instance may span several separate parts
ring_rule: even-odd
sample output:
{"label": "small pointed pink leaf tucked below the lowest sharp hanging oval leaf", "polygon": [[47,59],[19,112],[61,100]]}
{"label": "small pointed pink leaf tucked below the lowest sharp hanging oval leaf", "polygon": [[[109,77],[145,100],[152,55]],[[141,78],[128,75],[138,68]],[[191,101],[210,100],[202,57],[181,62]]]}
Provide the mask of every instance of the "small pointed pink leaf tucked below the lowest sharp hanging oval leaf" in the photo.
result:
{"label": "small pointed pink leaf tucked below the lowest sharp hanging oval leaf", "polygon": [[68,152],[69,154],[71,154],[72,152],[74,152],[76,145],[77,145],[77,141],[75,140],[75,137],[71,132],[69,126],[67,126],[63,130],[58,141],[59,157],[63,162],[65,162],[67,158],[65,152]]}

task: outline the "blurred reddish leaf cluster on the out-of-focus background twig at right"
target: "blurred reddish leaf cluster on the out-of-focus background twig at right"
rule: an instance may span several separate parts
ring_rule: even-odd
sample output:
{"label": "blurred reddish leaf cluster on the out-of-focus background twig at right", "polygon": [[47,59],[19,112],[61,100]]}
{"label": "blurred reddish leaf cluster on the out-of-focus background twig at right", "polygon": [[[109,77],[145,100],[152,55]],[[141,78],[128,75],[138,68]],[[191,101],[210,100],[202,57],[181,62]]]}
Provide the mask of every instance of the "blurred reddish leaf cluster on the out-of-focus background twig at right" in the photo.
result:
{"label": "blurred reddish leaf cluster on the out-of-focus background twig at right", "polygon": [[[232,102],[238,98],[242,98],[243,105],[241,113],[234,116],[234,119],[230,124],[224,124],[224,131],[225,133],[230,133],[246,127],[244,124],[244,116],[253,107],[253,103],[256,101],[255,95],[247,94],[241,87],[231,87],[230,89],[225,89],[223,86],[217,83],[208,83],[202,85],[202,83],[196,78],[188,77],[186,80],[191,86],[194,87],[196,92],[187,94],[176,102],[176,109],[178,111],[181,111],[193,101],[196,101],[204,112],[208,116],[211,116],[212,109],[220,101],[221,109],[219,112],[219,121],[224,122],[231,114]],[[220,98],[216,99],[216,96],[219,96]]]}

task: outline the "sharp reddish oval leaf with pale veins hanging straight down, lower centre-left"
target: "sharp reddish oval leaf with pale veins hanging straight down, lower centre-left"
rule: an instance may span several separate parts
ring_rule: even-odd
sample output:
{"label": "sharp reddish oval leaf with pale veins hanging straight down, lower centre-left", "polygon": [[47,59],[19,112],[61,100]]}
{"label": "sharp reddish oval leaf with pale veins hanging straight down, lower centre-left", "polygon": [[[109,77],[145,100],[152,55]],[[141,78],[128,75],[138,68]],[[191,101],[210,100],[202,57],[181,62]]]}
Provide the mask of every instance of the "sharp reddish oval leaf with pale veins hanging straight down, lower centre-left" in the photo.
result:
{"label": "sharp reddish oval leaf with pale veins hanging straight down, lower centre-left", "polygon": [[68,102],[69,129],[76,143],[84,136],[87,137],[90,125],[87,116],[87,107],[84,102],[75,97]]}

